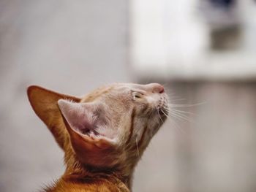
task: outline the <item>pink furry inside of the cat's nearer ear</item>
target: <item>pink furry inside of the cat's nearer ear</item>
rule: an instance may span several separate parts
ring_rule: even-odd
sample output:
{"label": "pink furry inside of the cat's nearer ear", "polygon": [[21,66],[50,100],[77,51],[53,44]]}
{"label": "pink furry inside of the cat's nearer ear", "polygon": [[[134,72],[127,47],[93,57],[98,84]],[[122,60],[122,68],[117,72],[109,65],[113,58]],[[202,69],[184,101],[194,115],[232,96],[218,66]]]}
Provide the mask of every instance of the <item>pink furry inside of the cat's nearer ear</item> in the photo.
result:
{"label": "pink furry inside of the cat's nearer ear", "polygon": [[76,134],[89,140],[105,139],[109,142],[115,140],[116,133],[110,128],[110,120],[108,120],[104,104],[95,102],[75,103],[64,99],[60,99],[58,104],[62,115],[71,128],[68,130],[69,134],[70,131],[75,131]]}

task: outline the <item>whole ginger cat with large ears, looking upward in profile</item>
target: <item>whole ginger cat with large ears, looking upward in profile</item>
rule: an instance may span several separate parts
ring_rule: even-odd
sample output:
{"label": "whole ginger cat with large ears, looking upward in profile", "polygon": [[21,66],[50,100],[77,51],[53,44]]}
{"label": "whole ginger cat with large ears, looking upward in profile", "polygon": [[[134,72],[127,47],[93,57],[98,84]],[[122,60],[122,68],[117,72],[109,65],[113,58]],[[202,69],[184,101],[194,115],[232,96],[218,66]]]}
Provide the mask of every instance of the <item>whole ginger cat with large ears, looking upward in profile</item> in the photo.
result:
{"label": "whole ginger cat with large ears, looking upward in profile", "polygon": [[168,96],[158,83],[115,83],[75,97],[31,85],[37,116],[64,150],[66,170],[45,192],[122,191],[165,122]]}

